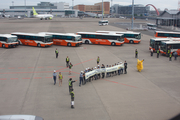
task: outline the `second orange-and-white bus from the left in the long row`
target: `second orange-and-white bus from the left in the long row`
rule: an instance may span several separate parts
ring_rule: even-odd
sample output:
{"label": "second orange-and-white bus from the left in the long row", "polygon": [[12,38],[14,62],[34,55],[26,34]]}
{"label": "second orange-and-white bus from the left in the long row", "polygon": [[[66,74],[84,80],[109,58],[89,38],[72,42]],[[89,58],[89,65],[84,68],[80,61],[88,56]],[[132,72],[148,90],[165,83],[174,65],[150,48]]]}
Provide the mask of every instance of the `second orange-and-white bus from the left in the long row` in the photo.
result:
{"label": "second orange-and-white bus from the left in the long row", "polygon": [[48,47],[53,44],[51,35],[20,33],[20,32],[15,32],[11,34],[16,35],[18,37],[19,44],[23,44],[23,45]]}

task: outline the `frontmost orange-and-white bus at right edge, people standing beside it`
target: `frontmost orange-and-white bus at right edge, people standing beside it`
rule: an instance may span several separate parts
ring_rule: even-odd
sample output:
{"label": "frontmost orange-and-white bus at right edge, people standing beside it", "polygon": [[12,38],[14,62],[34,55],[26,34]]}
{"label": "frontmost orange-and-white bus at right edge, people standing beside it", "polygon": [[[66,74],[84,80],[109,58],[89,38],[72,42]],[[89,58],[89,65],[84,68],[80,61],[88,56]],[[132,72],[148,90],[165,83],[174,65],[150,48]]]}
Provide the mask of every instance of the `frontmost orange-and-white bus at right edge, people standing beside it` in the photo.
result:
{"label": "frontmost orange-and-white bus at right edge, people standing beside it", "polygon": [[161,41],[160,53],[168,56],[168,50],[172,54],[176,51],[180,55],[180,41]]}

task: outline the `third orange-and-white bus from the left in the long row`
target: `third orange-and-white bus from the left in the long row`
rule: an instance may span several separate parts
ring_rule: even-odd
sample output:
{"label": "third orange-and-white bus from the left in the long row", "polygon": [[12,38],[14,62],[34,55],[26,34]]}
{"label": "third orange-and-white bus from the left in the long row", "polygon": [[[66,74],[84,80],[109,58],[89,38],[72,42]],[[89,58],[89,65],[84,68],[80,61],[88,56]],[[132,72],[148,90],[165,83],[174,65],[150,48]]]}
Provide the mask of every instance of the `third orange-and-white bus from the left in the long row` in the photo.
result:
{"label": "third orange-and-white bus from the left in the long row", "polygon": [[74,33],[42,32],[39,34],[52,35],[54,45],[79,46],[82,44],[81,35],[76,35]]}

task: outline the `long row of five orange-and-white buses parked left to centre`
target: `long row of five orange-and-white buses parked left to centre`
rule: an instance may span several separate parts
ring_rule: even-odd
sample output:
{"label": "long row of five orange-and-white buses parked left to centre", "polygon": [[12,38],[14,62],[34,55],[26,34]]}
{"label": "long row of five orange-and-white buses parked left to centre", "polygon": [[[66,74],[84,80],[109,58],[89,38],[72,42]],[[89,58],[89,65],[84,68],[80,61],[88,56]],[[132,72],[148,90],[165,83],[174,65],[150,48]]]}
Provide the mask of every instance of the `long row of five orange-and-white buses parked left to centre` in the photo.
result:
{"label": "long row of five orange-and-white buses parked left to centre", "polygon": [[19,44],[48,47],[52,44],[62,46],[80,46],[84,44],[99,44],[121,46],[124,43],[140,43],[141,33],[119,31],[96,31],[74,33],[22,33],[0,35],[0,47],[16,47]]}

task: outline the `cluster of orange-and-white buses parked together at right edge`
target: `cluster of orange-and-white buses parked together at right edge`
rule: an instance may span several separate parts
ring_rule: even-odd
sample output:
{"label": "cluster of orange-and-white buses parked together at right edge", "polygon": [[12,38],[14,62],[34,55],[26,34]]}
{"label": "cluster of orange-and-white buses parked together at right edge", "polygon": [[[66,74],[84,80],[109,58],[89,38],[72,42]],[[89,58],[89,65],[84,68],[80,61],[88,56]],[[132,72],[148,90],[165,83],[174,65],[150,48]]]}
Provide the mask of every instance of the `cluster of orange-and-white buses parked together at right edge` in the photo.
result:
{"label": "cluster of orange-and-white buses parked together at right edge", "polygon": [[155,31],[156,38],[150,39],[149,50],[160,51],[162,55],[168,56],[177,52],[180,55],[180,32]]}

